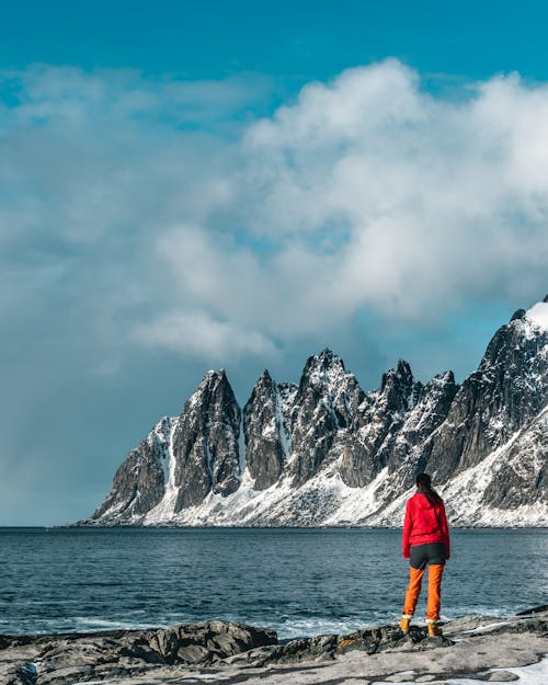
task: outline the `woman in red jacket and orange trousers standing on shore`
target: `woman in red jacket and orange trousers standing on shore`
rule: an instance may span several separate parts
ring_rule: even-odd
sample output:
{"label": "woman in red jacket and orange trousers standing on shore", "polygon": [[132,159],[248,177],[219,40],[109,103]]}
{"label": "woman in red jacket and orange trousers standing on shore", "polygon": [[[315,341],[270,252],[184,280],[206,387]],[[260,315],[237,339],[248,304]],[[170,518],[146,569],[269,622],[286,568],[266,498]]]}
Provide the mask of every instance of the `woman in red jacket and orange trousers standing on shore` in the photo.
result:
{"label": "woman in red jacket and orange trousers standing on shore", "polygon": [[429,600],[426,626],[429,637],[442,635],[437,626],[442,604],[442,573],[449,559],[449,530],[442,498],[432,489],[427,473],[416,476],[416,493],[408,500],[403,523],[403,558],[410,560],[409,585],[400,628],[409,632],[421,592],[424,569],[429,566]]}

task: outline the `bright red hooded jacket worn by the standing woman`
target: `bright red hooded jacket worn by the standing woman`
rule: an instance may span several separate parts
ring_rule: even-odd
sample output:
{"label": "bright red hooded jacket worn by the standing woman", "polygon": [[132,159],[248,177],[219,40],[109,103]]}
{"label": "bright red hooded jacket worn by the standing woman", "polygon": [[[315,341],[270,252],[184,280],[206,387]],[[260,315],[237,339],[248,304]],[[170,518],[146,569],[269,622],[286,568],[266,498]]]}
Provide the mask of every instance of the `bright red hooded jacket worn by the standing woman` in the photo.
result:
{"label": "bright red hooded jacket worn by the standing woman", "polygon": [[449,558],[449,529],[445,516],[445,506],[443,502],[432,505],[425,494],[416,492],[408,500],[406,506],[402,539],[403,557],[409,559],[412,545],[427,545],[429,543],[444,543],[447,549],[447,559]]}

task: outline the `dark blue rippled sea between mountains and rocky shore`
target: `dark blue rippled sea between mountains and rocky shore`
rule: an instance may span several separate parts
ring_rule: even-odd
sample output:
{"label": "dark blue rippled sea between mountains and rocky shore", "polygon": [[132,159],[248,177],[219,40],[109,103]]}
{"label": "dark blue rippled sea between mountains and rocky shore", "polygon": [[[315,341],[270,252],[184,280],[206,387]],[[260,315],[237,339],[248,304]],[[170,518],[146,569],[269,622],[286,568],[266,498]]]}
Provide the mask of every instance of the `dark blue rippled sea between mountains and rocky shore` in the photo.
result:
{"label": "dark blue rippled sea between mountains and rocky shore", "polygon": [[[288,638],[396,621],[409,572],[400,539],[358,528],[0,528],[0,632],[220,618]],[[453,530],[452,543],[443,618],[548,602],[548,530]]]}

